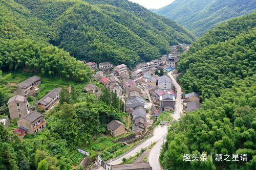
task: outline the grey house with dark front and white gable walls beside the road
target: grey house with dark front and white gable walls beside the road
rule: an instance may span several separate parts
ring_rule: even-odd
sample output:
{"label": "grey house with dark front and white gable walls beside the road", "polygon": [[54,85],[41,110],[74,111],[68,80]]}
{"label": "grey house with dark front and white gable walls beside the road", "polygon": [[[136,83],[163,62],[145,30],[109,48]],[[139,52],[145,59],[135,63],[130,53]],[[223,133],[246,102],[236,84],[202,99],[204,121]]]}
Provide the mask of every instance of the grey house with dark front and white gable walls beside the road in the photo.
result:
{"label": "grey house with dark front and white gable walls beside the road", "polygon": [[160,96],[160,111],[173,110],[175,106],[175,96],[170,94],[163,94]]}

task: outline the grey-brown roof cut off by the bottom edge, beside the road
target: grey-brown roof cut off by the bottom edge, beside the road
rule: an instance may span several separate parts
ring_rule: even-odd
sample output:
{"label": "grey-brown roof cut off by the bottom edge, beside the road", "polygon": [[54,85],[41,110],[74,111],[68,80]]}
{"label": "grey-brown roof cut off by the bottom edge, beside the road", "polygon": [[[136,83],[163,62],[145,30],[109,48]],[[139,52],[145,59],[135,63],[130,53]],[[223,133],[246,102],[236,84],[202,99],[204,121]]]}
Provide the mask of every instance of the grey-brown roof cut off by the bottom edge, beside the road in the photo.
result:
{"label": "grey-brown roof cut off by the bottom edge, beside the road", "polygon": [[111,165],[112,170],[152,170],[149,162]]}

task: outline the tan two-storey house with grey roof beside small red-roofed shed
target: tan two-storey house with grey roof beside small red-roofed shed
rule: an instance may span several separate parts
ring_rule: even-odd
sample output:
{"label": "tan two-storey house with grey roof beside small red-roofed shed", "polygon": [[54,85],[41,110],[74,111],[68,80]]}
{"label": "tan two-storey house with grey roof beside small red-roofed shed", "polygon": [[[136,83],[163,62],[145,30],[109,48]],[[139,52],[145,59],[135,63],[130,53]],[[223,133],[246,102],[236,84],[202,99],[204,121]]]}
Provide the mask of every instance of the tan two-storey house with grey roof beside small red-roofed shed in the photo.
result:
{"label": "tan two-storey house with grey roof beside small red-roofed shed", "polygon": [[23,116],[17,120],[18,127],[24,127],[27,134],[36,133],[46,127],[45,116],[38,113],[36,110]]}

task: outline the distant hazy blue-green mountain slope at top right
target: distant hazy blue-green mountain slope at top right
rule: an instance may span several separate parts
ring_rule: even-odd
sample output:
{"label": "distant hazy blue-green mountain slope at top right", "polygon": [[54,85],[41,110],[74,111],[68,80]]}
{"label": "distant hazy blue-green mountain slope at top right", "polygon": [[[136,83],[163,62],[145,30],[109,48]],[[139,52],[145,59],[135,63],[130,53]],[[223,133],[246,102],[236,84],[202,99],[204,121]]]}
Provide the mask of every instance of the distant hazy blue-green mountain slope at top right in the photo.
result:
{"label": "distant hazy blue-green mountain slope at top right", "polygon": [[253,0],[176,0],[153,12],[177,21],[197,36],[214,28],[219,22],[249,14],[256,9]]}

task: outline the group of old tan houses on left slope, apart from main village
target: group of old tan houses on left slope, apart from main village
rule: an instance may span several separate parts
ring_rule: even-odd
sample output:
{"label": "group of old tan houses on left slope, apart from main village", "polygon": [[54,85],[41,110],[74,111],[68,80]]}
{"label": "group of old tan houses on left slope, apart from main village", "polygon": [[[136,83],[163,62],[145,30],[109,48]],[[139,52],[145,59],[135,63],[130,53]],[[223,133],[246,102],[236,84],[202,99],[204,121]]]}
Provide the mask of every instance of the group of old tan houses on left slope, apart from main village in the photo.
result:
{"label": "group of old tan houses on left slope, apart from main village", "polygon": [[[44,115],[38,113],[36,110],[32,110],[35,106],[41,108],[44,111],[51,109],[59,99],[61,88],[55,88],[47,93],[43,98],[35,103],[33,107],[29,107],[28,95],[33,95],[38,90],[38,85],[41,83],[40,77],[33,76],[27,80],[19,83],[12,98],[8,100],[8,109],[10,118],[18,118],[18,128],[13,131],[20,137],[24,137],[26,134],[36,133],[46,127]],[[0,119],[8,128],[8,117],[2,117]]]}

